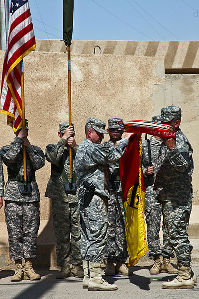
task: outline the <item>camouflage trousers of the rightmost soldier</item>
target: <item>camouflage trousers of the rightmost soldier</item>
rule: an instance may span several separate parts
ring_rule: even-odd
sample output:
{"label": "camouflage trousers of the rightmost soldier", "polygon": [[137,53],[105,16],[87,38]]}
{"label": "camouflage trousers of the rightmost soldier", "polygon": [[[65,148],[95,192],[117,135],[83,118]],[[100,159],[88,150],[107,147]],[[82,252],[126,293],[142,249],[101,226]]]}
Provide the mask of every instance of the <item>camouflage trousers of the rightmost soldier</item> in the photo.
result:
{"label": "camouflage trousers of the rightmost soldier", "polygon": [[190,265],[193,246],[187,233],[191,202],[165,202],[162,203],[163,221],[168,242],[174,248],[179,264]]}

